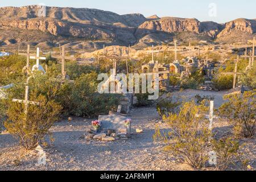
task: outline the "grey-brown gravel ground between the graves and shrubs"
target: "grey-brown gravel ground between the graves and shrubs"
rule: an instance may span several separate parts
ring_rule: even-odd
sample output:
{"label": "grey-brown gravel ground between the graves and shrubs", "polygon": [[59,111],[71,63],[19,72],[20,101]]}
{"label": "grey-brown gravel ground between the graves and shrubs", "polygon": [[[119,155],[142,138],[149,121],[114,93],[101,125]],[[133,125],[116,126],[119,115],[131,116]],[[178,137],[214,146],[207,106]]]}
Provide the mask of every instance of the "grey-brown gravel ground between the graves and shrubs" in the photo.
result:
{"label": "grey-brown gravel ground between the graves and shrubs", "polygon": [[[194,90],[185,90],[183,94],[189,97],[208,95]],[[216,94],[216,105],[223,102],[220,98],[224,92],[210,94]],[[11,135],[0,134],[0,170],[191,170],[170,152],[164,152],[163,143],[153,141],[155,125],[161,121],[155,107],[134,108],[129,117],[133,120],[133,129],[143,129],[143,133],[113,142],[81,139],[85,131],[91,129],[90,119],[73,118],[72,122],[55,123],[51,128],[55,141],[44,148],[47,164],[41,167],[35,166],[36,151],[26,152]],[[166,129],[164,124],[160,127]],[[214,121],[218,135],[228,130],[225,121]],[[256,169],[255,139],[243,139],[241,143],[244,144],[242,153],[249,159],[252,169]],[[237,163],[230,169],[241,169],[241,165]]]}

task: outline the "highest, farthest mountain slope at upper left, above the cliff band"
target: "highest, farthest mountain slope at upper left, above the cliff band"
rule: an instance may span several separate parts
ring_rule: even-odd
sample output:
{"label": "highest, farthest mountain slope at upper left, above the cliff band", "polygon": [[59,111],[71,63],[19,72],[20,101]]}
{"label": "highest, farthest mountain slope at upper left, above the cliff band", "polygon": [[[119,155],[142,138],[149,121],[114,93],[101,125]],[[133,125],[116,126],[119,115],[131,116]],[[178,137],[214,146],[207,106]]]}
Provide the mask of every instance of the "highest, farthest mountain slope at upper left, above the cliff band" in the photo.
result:
{"label": "highest, farthest mountain slope at upper left, above the cliff band", "polygon": [[[38,18],[41,6],[0,8],[0,19]],[[104,23],[122,23],[125,26],[137,27],[147,20],[142,14],[118,15],[110,11],[72,7],[46,7],[46,18],[68,20],[69,22],[93,21]]]}

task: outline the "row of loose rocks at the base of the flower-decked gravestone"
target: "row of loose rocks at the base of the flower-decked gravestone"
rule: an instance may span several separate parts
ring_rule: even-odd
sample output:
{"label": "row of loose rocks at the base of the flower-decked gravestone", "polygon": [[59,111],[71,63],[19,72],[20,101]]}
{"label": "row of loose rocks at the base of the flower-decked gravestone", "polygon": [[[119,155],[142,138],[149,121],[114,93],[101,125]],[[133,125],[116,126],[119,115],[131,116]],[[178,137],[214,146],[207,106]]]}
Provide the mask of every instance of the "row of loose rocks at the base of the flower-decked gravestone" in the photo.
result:
{"label": "row of loose rocks at the base of the flower-decked gravestone", "polygon": [[85,134],[85,139],[87,141],[89,140],[102,140],[102,141],[113,141],[118,139],[127,140],[131,137],[129,133],[127,133],[127,130],[103,130],[101,133],[96,133],[94,130],[88,130]]}

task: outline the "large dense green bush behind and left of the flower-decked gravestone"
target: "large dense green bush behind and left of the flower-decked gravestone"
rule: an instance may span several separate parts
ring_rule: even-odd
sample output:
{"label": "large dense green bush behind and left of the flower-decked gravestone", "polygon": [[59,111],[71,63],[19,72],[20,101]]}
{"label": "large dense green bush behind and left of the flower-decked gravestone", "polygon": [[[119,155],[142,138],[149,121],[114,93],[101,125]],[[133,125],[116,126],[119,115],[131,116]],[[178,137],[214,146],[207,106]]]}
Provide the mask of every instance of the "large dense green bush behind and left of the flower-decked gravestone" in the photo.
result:
{"label": "large dense green bush behind and left of the flower-decked gravestone", "polygon": [[65,114],[95,117],[116,110],[118,94],[100,94],[97,91],[97,73],[82,74],[73,85],[65,84],[60,89],[59,102]]}

